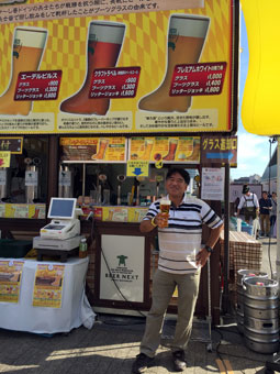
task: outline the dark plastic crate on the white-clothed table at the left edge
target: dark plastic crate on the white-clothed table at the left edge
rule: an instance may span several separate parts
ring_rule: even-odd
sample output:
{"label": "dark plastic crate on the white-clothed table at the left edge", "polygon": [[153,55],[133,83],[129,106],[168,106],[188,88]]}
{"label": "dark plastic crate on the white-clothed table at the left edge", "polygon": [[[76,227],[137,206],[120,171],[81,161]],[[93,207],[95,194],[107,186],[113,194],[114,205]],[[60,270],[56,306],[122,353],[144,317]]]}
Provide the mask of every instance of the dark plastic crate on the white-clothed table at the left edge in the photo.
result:
{"label": "dark plastic crate on the white-clothed table at the left edge", "polygon": [[0,239],[0,257],[21,258],[31,249],[31,240]]}

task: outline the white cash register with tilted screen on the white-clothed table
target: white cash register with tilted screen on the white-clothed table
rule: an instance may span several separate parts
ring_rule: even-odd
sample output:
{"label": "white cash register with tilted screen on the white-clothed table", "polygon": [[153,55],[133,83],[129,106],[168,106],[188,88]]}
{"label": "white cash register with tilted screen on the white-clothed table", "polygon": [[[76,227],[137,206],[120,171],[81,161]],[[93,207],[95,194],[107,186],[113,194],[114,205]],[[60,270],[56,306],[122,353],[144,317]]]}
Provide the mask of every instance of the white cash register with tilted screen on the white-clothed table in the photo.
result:
{"label": "white cash register with tilted screen on the white-clothed table", "polygon": [[79,215],[75,198],[53,197],[47,213],[52,221],[40,230],[40,237],[33,239],[33,248],[37,250],[37,260],[42,255],[60,255],[61,261],[76,253],[81,240]]}

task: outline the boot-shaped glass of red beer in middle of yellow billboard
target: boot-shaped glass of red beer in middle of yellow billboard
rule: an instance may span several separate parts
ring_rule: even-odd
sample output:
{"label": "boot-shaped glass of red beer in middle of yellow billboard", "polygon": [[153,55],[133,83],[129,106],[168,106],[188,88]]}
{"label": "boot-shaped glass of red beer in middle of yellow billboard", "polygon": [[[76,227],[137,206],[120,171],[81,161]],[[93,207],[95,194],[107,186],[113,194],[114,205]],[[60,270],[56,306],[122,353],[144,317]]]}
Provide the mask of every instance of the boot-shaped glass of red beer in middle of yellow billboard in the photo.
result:
{"label": "boot-shaped glass of red beer in middle of yellow billboard", "polygon": [[93,21],[89,25],[88,67],[81,89],[60,105],[60,110],[69,113],[104,116],[110,99],[90,99],[90,84],[97,68],[115,67],[122,47],[125,24]]}

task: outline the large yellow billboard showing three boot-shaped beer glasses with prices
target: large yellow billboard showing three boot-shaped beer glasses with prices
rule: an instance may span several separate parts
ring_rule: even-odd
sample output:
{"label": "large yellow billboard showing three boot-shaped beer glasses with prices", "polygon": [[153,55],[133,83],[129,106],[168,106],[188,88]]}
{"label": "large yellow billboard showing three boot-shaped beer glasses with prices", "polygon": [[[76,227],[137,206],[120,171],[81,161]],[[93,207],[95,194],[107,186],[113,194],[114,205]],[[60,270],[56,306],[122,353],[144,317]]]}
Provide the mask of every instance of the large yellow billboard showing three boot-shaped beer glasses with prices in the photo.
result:
{"label": "large yellow billboard showing three boot-shaped beer glasses with prices", "polygon": [[231,132],[236,0],[2,0],[0,133]]}

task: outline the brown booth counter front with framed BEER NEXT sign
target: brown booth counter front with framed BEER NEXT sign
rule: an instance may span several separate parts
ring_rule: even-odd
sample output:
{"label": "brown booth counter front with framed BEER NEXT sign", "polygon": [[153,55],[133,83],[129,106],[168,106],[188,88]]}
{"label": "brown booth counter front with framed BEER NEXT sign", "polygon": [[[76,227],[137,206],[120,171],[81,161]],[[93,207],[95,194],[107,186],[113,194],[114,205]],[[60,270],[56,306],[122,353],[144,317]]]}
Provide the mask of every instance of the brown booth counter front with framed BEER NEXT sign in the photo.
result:
{"label": "brown booth counter front with framed BEER NEXT sign", "polygon": [[[139,316],[150,308],[153,275],[157,268],[157,231],[139,231],[139,223],[93,220],[89,248],[90,264],[87,283],[94,311]],[[214,323],[220,322],[220,250],[211,260],[211,295]],[[177,312],[177,295],[168,312]],[[195,315],[208,312],[208,274],[202,270]]]}

